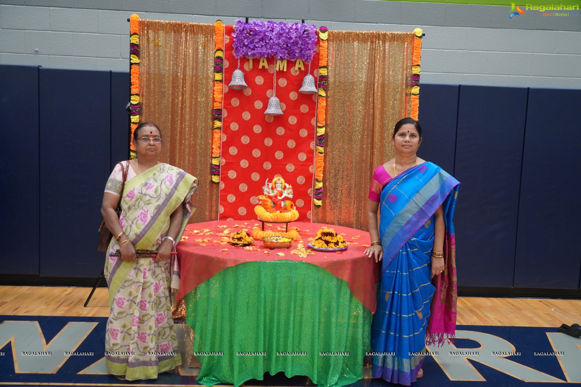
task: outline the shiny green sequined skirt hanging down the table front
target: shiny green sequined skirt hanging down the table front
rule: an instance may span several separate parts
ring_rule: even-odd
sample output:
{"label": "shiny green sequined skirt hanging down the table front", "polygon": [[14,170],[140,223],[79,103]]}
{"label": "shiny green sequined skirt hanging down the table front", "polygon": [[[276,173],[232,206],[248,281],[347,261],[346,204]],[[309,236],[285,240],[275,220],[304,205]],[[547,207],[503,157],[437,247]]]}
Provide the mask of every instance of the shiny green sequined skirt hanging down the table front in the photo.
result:
{"label": "shiny green sequined skirt hanging down the table front", "polygon": [[199,285],[185,300],[193,351],[202,363],[198,382],[204,385],[238,387],[280,371],[287,377],[306,375],[324,387],[363,378],[372,314],[351,294],[349,283],[319,266],[241,263]]}

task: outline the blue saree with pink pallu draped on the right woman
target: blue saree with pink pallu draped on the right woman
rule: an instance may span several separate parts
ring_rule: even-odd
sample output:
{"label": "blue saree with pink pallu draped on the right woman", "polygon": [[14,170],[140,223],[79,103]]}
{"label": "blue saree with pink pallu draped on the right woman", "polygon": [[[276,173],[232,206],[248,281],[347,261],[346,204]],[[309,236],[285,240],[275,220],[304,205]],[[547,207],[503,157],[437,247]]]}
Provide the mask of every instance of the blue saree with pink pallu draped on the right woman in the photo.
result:
{"label": "blue saree with pink pallu draped on the right woman", "polygon": [[[457,290],[452,217],[459,186],[442,168],[425,162],[389,180],[381,191],[382,277],[371,330],[375,378],[410,385],[424,361],[426,337],[429,343],[443,343],[454,336]],[[442,204],[445,269],[431,280],[433,215]]]}

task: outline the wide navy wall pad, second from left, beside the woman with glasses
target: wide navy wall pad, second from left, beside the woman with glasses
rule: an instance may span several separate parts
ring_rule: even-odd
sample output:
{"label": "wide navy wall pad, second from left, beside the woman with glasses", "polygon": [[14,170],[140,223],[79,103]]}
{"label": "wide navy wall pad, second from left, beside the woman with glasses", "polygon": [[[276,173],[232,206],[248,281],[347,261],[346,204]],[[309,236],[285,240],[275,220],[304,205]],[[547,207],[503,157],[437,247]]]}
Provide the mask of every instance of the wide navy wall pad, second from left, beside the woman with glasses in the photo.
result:
{"label": "wide navy wall pad, second from left, beside the woman with glasses", "polygon": [[40,274],[98,277],[110,160],[110,71],[40,68]]}

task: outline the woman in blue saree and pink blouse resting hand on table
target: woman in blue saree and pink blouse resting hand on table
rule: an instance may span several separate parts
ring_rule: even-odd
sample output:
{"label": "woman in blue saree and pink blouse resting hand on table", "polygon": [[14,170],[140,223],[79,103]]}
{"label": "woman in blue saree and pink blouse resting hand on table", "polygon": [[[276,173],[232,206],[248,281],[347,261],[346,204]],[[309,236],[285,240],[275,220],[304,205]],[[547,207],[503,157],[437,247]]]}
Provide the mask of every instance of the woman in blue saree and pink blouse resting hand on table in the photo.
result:
{"label": "woman in blue saree and pink blouse resting hand on table", "polygon": [[375,169],[367,204],[372,243],[365,254],[383,260],[372,374],[404,385],[423,376],[426,341],[442,345],[456,329],[452,217],[460,183],[417,157],[421,134],[412,118],[397,122],[396,157]]}

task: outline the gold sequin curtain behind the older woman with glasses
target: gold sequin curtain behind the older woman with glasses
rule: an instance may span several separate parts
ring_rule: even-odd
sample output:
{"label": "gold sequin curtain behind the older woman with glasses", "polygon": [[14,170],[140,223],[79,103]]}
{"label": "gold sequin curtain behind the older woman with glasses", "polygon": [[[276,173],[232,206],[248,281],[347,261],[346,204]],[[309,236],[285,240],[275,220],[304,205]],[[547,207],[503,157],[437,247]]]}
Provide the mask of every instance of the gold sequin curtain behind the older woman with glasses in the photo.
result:
{"label": "gold sequin curtain behind the older woman with glasses", "polygon": [[210,180],[214,25],[139,20],[141,122],[162,129],[159,160],[199,179],[190,223],[218,219]]}

